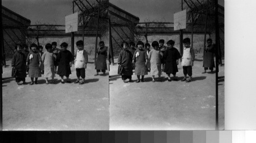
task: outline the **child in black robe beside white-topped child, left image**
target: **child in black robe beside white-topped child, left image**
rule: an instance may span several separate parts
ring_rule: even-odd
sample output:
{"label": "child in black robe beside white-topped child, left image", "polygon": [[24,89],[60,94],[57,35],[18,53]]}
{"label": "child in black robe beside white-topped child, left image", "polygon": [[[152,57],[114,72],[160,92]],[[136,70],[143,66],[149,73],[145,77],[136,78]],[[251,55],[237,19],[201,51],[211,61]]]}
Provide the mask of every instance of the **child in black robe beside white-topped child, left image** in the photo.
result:
{"label": "child in black robe beside white-topped child, left image", "polygon": [[57,62],[58,62],[58,70],[57,74],[61,78],[61,83],[65,83],[63,76],[67,77],[67,82],[71,83],[69,79],[69,75],[71,74],[70,67],[72,66],[72,61],[74,60],[72,53],[67,50],[68,44],[63,42],[60,44],[61,51],[57,55]]}

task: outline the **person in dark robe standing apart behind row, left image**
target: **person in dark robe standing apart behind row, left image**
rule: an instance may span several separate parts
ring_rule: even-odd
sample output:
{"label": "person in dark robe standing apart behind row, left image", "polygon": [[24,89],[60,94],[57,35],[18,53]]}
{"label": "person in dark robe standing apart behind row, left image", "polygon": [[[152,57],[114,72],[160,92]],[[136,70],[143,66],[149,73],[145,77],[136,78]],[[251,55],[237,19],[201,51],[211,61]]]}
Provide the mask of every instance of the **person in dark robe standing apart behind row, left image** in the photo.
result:
{"label": "person in dark robe standing apart behind row, left image", "polygon": [[97,48],[97,60],[96,60],[96,74],[99,75],[99,72],[103,72],[105,75],[106,70],[106,58],[108,57],[108,47],[105,46],[103,41],[99,42],[99,48]]}

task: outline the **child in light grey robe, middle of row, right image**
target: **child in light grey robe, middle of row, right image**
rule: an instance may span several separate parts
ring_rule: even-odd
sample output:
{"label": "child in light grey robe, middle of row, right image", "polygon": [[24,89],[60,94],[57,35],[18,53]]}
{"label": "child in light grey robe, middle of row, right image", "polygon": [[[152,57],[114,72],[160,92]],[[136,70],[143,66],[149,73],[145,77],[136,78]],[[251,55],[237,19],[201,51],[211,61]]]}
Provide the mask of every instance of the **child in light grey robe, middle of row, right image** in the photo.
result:
{"label": "child in light grey robe, middle of row, right image", "polygon": [[152,42],[153,49],[148,53],[148,60],[150,61],[150,74],[152,75],[152,82],[155,82],[155,75],[158,75],[161,81],[161,59],[162,52],[159,50],[159,43],[157,41]]}

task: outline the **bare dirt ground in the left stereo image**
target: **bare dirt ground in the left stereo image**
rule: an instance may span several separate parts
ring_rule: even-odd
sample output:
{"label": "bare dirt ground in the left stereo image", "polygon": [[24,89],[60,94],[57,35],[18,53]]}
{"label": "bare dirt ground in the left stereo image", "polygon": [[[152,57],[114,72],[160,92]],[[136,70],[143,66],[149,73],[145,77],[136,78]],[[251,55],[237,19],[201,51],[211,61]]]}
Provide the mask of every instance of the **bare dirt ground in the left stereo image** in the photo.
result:
{"label": "bare dirt ground in the left stereo image", "polygon": [[[86,83],[45,84],[44,75],[38,84],[17,85],[11,77],[11,60],[3,68],[4,130],[109,130],[109,73],[94,76],[93,56],[89,56]],[[102,73],[100,73],[102,74]],[[26,81],[30,83],[27,76]]]}

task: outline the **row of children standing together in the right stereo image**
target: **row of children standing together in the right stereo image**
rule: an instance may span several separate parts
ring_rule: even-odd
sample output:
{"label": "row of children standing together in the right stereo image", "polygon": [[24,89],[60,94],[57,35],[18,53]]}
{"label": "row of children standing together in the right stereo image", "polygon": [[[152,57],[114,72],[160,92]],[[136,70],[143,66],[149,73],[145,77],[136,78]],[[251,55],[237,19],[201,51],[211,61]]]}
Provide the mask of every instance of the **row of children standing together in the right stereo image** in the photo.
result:
{"label": "row of children standing together in the right stereo image", "polygon": [[[190,48],[190,39],[183,39],[183,55],[174,47],[175,42],[169,40],[167,47],[164,46],[164,40],[152,42],[153,49],[150,50],[150,44],[138,41],[135,49],[135,43],[130,43],[130,48],[127,42],[122,42],[123,48],[118,56],[118,64],[122,70],[120,74],[124,83],[132,82],[133,69],[137,75],[136,82],[143,82],[144,75],[150,72],[152,81],[155,82],[155,75],[161,79],[162,71],[168,75],[168,81],[172,81],[170,74],[173,74],[173,80],[177,81],[176,73],[178,72],[179,59],[182,58],[181,65],[183,66],[184,78],[181,81],[190,82],[192,80],[192,67],[194,66],[195,52]],[[135,67],[135,68],[134,68]],[[161,69],[162,68],[162,69]],[[188,75],[188,78],[187,78]],[[141,78],[140,78],[141,77]]]}

